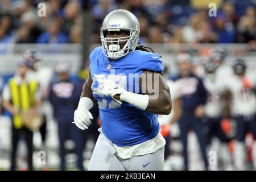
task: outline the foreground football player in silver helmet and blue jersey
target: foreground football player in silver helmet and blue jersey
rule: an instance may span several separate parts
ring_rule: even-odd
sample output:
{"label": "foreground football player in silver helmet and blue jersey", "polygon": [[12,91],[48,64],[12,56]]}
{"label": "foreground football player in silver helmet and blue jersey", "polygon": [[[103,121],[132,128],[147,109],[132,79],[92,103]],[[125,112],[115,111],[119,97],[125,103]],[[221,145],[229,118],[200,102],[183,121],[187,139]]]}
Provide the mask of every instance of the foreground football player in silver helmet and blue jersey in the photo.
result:
{"label": "foreground football player in silver helmet and blue jersey", "polygon": [[101,28],[102,47],[90,54],[74,121],[88,129],[98,102],[101,132],[89,170],[163,170],[165,140],[157,114],[170,114],[171,96],[159,55],[138,46],[138,19],[129,11],[110,12]]}

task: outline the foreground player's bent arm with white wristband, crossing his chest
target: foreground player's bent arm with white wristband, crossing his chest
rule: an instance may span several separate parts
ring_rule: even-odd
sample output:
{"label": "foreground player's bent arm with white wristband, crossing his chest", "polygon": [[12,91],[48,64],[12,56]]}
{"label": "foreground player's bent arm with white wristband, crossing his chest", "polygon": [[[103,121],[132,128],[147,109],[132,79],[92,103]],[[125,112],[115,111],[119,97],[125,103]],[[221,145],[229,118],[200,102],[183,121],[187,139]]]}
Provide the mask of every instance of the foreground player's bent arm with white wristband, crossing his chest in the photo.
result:
{"label": "foreground player's bent arm with white wristband, crossing his chest", "polygon": [[[150,83],[147,84],[148,82]],[[121,94],[114,93],[113,98],[154,114],[168,115],[171,113],[170,90],[160,73],[144,71],[139,84],[143,94],[124,91]]]}

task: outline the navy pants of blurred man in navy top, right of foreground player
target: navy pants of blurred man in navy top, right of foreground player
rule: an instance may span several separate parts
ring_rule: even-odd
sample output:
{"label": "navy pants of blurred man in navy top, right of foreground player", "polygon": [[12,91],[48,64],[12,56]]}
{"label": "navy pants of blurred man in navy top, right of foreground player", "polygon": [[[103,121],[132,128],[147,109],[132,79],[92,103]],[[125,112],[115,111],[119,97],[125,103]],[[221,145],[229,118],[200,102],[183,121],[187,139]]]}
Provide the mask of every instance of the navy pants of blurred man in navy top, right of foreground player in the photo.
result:
{"label": "navy pants of blurred man in navy top, right of foreground player", "polygon": [[209,163],[206,153],[207,147],[207,127],[200,118],[196,118],[193,114],[182,114],[179,121],[180,139],[183,144],[184,169],[188,170],[188,132],[193,129],[199,140],[201,155],[203,156],[205,168],[208,169]]}

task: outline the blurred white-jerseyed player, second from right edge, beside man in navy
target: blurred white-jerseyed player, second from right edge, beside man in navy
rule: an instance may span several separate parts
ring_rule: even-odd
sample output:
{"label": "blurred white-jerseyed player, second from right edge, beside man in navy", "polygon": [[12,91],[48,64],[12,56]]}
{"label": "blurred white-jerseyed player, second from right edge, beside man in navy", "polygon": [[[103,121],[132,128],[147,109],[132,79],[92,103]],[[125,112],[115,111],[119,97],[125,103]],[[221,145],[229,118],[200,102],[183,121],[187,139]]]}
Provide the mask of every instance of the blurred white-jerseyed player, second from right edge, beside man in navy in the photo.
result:
{"label": "blurred white-jerseyed player, second from right edge, beside man in navy", "polygon": [[[212,61],[207,61],[204,65],[205,77],[204,86],[207,89],[208,97],[207,104],[204,107],[205,118],[204,121],[208,126],[208,149],[212,150],[211,143],[213,137],[217,137],[220,140],[217,156],[222,164],[222,169],[231,170],[232,160],[228,149],[228,142],[230,139],[224,133],[221,127],[222,115],[224,110],[224,91],[218,86],[216,79],[217,66]],[[217,168],[220,169],[220,165],[217,163]]]}

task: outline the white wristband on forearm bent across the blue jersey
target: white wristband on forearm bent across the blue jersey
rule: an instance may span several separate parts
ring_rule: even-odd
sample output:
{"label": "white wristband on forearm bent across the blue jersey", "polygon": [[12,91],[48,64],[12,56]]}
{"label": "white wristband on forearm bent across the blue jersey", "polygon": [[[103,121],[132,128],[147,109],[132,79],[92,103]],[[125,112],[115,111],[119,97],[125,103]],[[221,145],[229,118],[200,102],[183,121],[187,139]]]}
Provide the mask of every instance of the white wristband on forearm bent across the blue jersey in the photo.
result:
{"label": "white wristband on forearm bent across the blue jersey", "polygon": [[120,95],[120,100],[139,107],[139,109],[146,110],[149,98],[148,95],[124,91]]}

